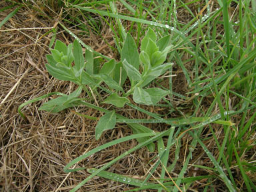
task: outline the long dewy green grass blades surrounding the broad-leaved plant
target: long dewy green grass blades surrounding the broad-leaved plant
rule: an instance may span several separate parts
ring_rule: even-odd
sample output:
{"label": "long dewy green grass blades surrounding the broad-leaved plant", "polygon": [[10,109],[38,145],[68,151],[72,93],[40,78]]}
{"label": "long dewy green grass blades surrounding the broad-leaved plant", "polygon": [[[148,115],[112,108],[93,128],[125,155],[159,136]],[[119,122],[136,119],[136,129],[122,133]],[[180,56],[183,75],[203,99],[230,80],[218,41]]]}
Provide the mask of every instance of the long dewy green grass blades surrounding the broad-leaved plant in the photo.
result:
{"label": "long dewy green grass blades surrounding the broad-leaved plant", "polygon": [[[203,2],[203,5],[198,4],[199,1],[196,0],[189,3],[183,3],[182,1],[94,1],[91,3],[73,1],[73,3],[69,3],[68,7],[64,7],[64,9],[77,11],[77,14],[84,17],[88,16],[91,20],[89,22],[91,27],[97,29],[95,31],[99,31],[101,25],[93,21],[93,15],[101,17],[109,25],[109,28],[113,30],[115,48],[120,55],[122,54],[121,49],[124,46],[127,32],[131,33],[133,37],[137,37],[137,46],[140,45],[140,40],[145,36],[144,34],[148,27],[152,27],[158,37],[170,34],[173,47],[169,51],[167,61],[175,62],[176,69],[179,68],[182,71],[185,77],[184,86],[187,86],[187,93],[175,93],[173,90],[176,85],[173,85],[173,77],[169,77],[169,98],[178,98],[181,100],[179,102],[184,105],[187,102],[191,104],[188,106],[189,110],[179,110],[173,107],[177,100],[171,102],[165,100],[166,102],[163,104],[168,109],[172,109],[176,113],[179,112],[180,117],[163,119],[157,113],[152,113],[143,107],[127,103],[129,107],[145,113],[151,119],[139,119],[138,117],[127,119],[117,115],[117,123],[127,123],[133,131],[135,129],[134,126],[139,126],[144,132],[141,131],[135,135],[117,139],[97,147],[71,161],[65,167],[65,171],[78,171],[79,169],[69,168],[107,146],[115,145],[128,139],[141,139],[143,137],[147,139],[138,139],[139,144],[136,147],[129,149],[129,151],[103,165],[100,169],[90,169],[89,173],[91,175],[81,181],[72,191],[76,191],[96,175],[107,179],[115,177],[115,179],[112,179],[113,181],[137,186],[139,187],[136,189],[137,191],[142,189],[185,191],[192,186],[194,181],[202,178],[207,179],[207,187],[222,183],[221,185],[225,185],[225,188],[228,188],[229,191],[255,191],[256,184],[247,175],[249,171],[256,172],[255,161],[247,155],[247,153],[252,153],[255,150],[256,144],[254,135],[256,114],[256,16],[255,7],[253,7],[255,2],[249,0],[218,1],[219,5],[215,5],[218,9],[213,9],[210,3],[203,12],[204,16],[196,15],[195,11],[199,13],[203,6],[207,5],[208,1],[200,2]],[[235,11],[232,17],[229,14],[229,11],[232,10],[231,3],[235,3],[239,7],[239,11]],[[117,8],[120,4],[125,7],[124,13]],[[195,10],[192,5],[195,5],[197,9]],[[177,17],[179,15],[177,9],[187,11],[186,14],[189,14],[187,23],[182,22],[180,20],[181,17]],[[15,13],[12,12],[10,17],[13,14]],[[59,23],[61,27],[77,39],[83,47],[93,51],[91,47],[85,45],[79,39],[81,34],[72,33],[67,26],[83,23],[83,21],[79,20],[79,17],[75,19],[75,17],[70,16],[69,18],[73,18],[73,21],[63,20],[65,22]],[[79,27],[87,31],[87,26],[79,25]],[[109,60],[105,55],[95,51],[93,53]],[[187,63],[190,64],[188,65]],[[175,73],[175,70],[170,69],[169,75]],[[155,85],[159,85],[159,83],[161,83],[161,79],[155,79]],[[111,93],[106,88],[100,86],[98,88],[103,89],[106,93]],[[29,103],[39,101],[43,97],[29,101]],[[211,102],[205,106],[205,101],[208,101],[208,99]],[[91,103],[86,103],[85,101],[81,101],[81,103],[98,111],[110,113],[110,111]],[[25,105],[27,104],[25,103]],[[77,115],[83,116],[83,114],[79,113]],[[93,118],[85,115],[83,117]],[[133,125],[131,123],[137,124]],[[169,125],[169,129],[153,135],[153,133],[147,133],[149,128],[138,123],[163,123]],[[215,133],[216,126],[219,133],[221,133],[221,139]],[[204,137],[204,129],[208,129],[209,133],[211,133],[206,138]],[[192,139],[187,153],[182,154],[184,156],[183,167],[177,173],[178,177],[166,177],[168,174],[171,175],[181,157],[181,147],[184,147],[181,146],[182,139],[189,137],[189,135]],[[163,137],[167,138],[167,142],[164,142]],[[157,144],[158,155],[155,157],[157,161],[149,171],[149,174],[144,175],[144,181],[104,171],[119,159],[135,150],[139,150],[141,147],[149,147],[153,142]],[[211,145],[205,145],[208,142],[211,142]],[[176,153],[175,159],[171,159],[173,164],[169,165],[171,147],[176,148]],[[155,150],[152,145],[149,149]],[[211,170],[211,175],[187,177],[189,163],[196,158],[194,157],[195,151],[199,149],[203,149],[205,155],[211,161],[211,164],[207,164],[210,166],[208,169]],[[152,175],[159,167],[161,170],[159,180],[153,179],[156,181],[155,183],[149,182],[149,179],[153,177]],[[202,168],[202,170],[207,169],[206,165],[198,165],[197,167]],[[233,175],[233,167],[239,167],[237,174],[239,174],[239,178],[242,181],[237,182],[238,178],[235,178],[237,175]],[[87,167],[82,169],[87,169]],[[235,170],[237,171],[237,169]],[[173,181],[170,181],[170,179],[173,179]],[[207,190],[207,187],[204,189]]]}

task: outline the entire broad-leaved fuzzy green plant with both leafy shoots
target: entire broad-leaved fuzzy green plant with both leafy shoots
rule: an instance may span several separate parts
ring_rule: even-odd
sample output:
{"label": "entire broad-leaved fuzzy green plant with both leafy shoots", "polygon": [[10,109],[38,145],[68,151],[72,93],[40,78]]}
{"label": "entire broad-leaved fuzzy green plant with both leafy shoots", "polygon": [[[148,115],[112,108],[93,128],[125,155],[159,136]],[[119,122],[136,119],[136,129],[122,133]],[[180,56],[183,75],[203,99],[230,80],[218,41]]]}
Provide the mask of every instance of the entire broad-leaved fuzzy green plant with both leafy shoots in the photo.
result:
{"label": "entire broad-leaved fuzzy green plant with both leafy shoots", "polygon": [[[97,88],[104,89],[109,96],[103,103],[109,103],[115,107],[124,107],[126,103],[129,103],[127,98],[129,95],[133,95],[135,103],[156,105],[169,94],[169,91],[157,87],[145,87],[173,65],[173,63],[165,63],[167,53],[171,50],[170,41],[170,35],[157,41],[154,31],[149,28],[141,41],[139,53],[133,37],[127,33],[121,50],[121,61],[116,62],[111,59],[100,67],[99,60],[94,58],[91,51],[86,50],[84,56],[79,41],[75,40],[73,44],[65,45],[57,40],[54,49],[51,49],[51,55],[46,56],[48,61],[46,68],[53,77],[63,81],[72,81],[79,87],[69,95],[63,94],[61,97],[44,103],[39,109],[57,113],[68,107],[81,105],[83,98],[79,98],[79,95],[82,89],[87,91],[85,85],[92,87],[94,91],[97,91]],[[123,84],[127,77],[131,82],[131,87],[125,92]],[[100,86],[103,82],[109,89]],[[114,110],[105,113],[95,128],[96,139],[101,137],[103,131],[113,129],[118,118],[120,115],[117,115]],[[127,124],[134,133],[152,132],[151,129],[137,123]],[[151,150],[154,149],[153,145],[148,147]]]}

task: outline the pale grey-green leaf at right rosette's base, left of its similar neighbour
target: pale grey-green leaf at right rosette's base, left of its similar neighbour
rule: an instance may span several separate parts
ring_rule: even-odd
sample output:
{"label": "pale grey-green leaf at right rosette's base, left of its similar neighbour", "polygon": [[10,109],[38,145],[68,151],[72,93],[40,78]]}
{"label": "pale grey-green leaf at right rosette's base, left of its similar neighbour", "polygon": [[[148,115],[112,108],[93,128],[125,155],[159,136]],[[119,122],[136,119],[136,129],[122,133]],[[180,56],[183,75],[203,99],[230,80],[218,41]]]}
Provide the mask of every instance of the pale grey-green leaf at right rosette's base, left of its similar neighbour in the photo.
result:
{"label": "pale grey-green leaf at right rosette's base, left of its similar neighbour", "polygon": [[140,87],[135,87],[133,93],[133,101],[138,104],[153,105],[149,93],[147,93],[147,91],[144,91]]}

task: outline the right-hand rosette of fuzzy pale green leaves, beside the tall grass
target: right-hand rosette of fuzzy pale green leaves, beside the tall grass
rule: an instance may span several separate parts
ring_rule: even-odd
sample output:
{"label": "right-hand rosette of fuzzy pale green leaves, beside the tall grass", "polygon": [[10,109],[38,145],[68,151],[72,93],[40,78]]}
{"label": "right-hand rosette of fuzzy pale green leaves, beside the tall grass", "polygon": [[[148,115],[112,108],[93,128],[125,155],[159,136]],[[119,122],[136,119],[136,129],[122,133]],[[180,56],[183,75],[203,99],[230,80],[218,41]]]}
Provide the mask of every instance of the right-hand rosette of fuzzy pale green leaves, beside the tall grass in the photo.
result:
{"label": "right-hand rosette of fuzzy pale green leaves, beside the tall grass", "polygon": [[[121,63],[119,63],[119,67],[116,67],[115,71],[117,74],[114,76],[115,81],[120,79],[121,85],[123,85],[127,76],[131,81],[131,89],[123,93],[123,97],[133,95],[135,103],[155,105],[169,94],[169,91],[160,88],[151,87],[145,89],[145,87],[155,78],[163,75],[173,65],[173,63],[164,63],[167,53],[170,52],[172,47],[170,41],[170,35],[162,37],[157,41],[155,32],[149,28],[141,41],[141,52],[139,53],[133,37],[127,33],[123,49],[121,50]],[[120,69],[120,67],[123,69]],[[121,77],[119,71],[121,71]],[[112,97],[112,95],[109,97]],[[115,105],[115,102],[111,104]]]}

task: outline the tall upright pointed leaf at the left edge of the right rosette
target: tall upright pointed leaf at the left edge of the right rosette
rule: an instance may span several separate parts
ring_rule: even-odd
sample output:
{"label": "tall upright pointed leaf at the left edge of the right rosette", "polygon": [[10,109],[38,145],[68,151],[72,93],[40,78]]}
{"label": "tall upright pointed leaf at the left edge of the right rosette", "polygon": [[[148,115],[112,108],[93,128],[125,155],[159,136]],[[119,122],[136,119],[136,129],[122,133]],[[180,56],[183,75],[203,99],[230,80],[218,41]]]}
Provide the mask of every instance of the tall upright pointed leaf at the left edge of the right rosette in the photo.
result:
{"label": "tall upright pointed leaf at the left edge of the right rosette", "polygon": [[121,51],[121,61],[123,62],[125,59],[135,69],[139,69],[139,52],[130,33],[127,33],[125,43],[123,44],[123,49]]}

